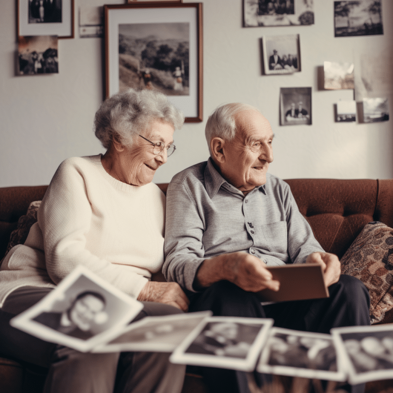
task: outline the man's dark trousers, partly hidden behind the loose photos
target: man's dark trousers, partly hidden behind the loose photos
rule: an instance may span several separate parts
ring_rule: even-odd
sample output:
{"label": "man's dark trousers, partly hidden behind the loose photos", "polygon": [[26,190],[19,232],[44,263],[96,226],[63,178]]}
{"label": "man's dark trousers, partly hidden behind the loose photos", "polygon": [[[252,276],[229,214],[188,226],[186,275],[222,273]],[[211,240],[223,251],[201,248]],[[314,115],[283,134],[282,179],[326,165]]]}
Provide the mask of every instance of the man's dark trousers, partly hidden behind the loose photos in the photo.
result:
{"label": "man's dark trousers, partly hidden behind the loose photos", "polygon": [[[194,295],[189,311],[211,310],[217,316],[272,318],[274,326],[314,333],[330,333],[332,328],[369,325],[370,299],[367,288],[355,277],[341,275],[329,287],[329,298],[288,301],[265,305],[252,292],[229,281],[219,281]],[[203,367],[211,392],[249,393],[245,373]],[[258,379],[258,377],[257,377]],[[259,376],[259,380],[262,378]],[[346,387],[352,393],[364,391],[364,384]]]}

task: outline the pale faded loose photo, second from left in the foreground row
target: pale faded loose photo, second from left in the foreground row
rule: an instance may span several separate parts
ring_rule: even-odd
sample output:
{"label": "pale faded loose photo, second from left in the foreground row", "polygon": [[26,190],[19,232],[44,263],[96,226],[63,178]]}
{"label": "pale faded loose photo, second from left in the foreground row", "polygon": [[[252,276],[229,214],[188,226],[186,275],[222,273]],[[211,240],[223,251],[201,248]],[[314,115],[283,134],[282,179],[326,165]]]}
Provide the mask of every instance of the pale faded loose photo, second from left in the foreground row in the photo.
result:
{"label": "pale faded loose photo, second from left in the foreground row", "polygon": [[118,337],[92,352],[173,352],[211,311],[145,317],[126,326]]}

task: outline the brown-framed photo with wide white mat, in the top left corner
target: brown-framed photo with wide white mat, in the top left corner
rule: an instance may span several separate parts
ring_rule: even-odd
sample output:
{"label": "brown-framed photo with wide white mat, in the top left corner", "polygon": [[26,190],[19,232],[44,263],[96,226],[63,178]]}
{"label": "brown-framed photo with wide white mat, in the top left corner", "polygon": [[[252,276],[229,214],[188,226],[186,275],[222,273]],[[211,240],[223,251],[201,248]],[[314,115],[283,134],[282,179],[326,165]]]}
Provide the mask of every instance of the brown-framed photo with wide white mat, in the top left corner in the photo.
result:
{"label": "brown-framed photo with wide white mat, in the top left corner", "polygon": [[19,36],[74,38],[74,0],[17,0]]}

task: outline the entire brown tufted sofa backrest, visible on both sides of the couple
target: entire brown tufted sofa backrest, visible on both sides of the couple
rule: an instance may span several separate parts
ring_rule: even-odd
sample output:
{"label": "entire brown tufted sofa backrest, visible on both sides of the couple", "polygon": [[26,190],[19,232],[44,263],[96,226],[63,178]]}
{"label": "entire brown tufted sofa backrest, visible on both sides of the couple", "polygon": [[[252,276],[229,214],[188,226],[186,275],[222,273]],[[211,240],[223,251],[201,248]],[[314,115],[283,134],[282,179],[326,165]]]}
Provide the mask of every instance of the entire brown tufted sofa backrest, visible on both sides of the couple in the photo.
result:
{"label": "entire brown tufted sofa backrest, visible on both sides of the couple", "polygon": [[[326,252],[342,257],[365,224],[381,221],[393,227],[393,180],[286,180],[300,212]],[[166,193],[167,183],[158,184]],[[0,188],[0,259],[11,232],[29,204],[43,198],[48,186]]]}

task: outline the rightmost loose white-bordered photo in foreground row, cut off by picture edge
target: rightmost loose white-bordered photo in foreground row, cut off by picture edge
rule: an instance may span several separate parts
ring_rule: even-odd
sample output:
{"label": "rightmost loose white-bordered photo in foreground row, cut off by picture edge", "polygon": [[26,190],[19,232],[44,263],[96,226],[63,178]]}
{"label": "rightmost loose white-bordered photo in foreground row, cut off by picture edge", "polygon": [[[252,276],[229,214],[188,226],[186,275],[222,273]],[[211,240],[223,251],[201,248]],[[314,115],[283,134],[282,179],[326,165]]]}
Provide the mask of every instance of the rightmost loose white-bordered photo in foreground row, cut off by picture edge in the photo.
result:
{"label": "rightmost loose white-bordered photo in foreground row, cut off by picture edge", "polygon": [[334,328],[331,333],[351,384],[391,379],[393,324]]}

